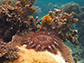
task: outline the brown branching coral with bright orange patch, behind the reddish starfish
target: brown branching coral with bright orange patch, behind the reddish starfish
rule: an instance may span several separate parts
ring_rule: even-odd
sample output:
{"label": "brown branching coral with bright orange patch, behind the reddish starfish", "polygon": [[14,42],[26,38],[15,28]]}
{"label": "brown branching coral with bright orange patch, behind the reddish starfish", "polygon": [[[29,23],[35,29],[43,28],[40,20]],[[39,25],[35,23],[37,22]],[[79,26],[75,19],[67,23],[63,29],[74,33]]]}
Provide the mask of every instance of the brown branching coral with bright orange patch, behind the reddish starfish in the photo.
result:
{"label": "brown branching coral with bright orange patch, behind the reddish starfish", "polygon": [[50,11],[48,15],[40,20],[42,21],[40,28],[43,29],[45,27],[47,30],[53,30],[63,41],[70,40],[73,44],[78,44],[77,31],[70,29],[71,23],[78,21],[77,18],[73,18],[73,15],[74,12],[68,14],[63,12],[63,10],[54,9],[54,12]]}

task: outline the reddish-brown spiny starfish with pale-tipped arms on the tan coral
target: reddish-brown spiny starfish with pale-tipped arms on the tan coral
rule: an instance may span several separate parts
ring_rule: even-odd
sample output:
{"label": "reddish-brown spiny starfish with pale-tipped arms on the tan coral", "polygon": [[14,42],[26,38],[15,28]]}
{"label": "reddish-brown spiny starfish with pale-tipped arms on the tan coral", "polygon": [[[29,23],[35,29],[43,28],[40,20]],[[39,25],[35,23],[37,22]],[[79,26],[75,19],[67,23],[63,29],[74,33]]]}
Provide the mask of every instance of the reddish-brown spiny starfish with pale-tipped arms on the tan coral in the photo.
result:
{"label": "reddish-brown spiny starfish with pale-tipped arms on the tan coral", "polygon": [[32,33],[29,37],[22,41],[22,44],[27,44],[28,49],[35,49],[36,51],[48,50],[52,53],[57,52],[57,48],[61,50],[58,38],[54,38],[50,32]]}

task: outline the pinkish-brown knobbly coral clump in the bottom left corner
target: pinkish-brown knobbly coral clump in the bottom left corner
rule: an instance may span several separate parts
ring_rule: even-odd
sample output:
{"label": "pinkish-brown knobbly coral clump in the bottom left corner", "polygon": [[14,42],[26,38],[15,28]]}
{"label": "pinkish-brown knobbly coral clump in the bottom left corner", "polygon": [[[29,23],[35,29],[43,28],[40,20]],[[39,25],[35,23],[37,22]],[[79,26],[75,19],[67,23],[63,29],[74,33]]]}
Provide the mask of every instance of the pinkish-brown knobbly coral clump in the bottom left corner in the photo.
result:
{"label": "pinkish-brown knobbly coral clump in the bottom left corner", "polygon": [[6,60],[14,61],[19,57],[17,51],[19,51],[17,47],[14,47],[12,45],[0,41],[0,62]]}

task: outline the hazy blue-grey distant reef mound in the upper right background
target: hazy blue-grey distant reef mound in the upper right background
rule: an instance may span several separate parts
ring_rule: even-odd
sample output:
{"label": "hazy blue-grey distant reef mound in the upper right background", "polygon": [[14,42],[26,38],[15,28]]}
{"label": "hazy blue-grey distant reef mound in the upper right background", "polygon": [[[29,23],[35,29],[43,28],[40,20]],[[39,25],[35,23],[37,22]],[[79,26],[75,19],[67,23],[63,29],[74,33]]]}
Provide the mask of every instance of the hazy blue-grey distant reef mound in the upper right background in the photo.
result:
{"label": "hazy blue-grey distant reef mound in the upper right background", "polygon": [[[79,38],[78,40],[81,42],[81,44],[83,45],[83,34],[84,34],[84,6],[80,7],[77,3],[68,3],[65,4],[63,6],[61,6],[62,9],[65,10],[65,12],[70,13],[72,11],[75,12],[74,17],[78,18],[79,21],[77,22],[77,24],[73,25],[75,27],[72,26],[72,28],[77,29],[78,30],[78,35]],[[69,10],[70,9],[70,10]]]}

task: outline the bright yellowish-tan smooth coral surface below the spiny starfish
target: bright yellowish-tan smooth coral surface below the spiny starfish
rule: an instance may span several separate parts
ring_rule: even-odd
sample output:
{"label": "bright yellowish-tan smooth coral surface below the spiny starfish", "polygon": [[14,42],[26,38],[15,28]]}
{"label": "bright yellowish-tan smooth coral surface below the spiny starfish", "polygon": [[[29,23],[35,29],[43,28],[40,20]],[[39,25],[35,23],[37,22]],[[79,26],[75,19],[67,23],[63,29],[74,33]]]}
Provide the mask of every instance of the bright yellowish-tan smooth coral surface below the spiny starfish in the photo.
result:
{"label": "bright yellowish-tan smooth coral surface below the spiny starfish", "polygon": [[33,49],[28,50],[24,46],[19,48],[19,59],[9,63],[65,63],[59,51],[54,55],[48,51],[36,52]]}

